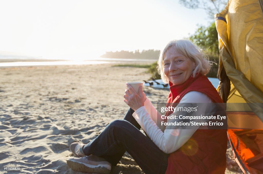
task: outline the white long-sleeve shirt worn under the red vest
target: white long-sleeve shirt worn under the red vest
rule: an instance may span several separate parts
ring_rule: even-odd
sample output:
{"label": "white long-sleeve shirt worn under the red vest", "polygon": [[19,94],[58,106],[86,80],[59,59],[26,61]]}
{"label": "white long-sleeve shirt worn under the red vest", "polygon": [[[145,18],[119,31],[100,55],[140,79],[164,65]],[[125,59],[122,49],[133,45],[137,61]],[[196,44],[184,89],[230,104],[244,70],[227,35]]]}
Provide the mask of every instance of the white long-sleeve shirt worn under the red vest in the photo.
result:
{"label": "white long-sleeve shirt worn under the red vest", "polygon": [[[186,103],[212,103],[212,101],[201,92],[190,91],[184,95],[177,106],[186,107]],[[205,107],[199,107],[195,114],[200,115],[205,113],[206,109]],[[185,112],[176,111],[173,115],[183,115],[184,113]],[[160,125],[161,115],[148,98],[145,100],[144,106],[133,113],[133,117],[141,128],[164,153],[172,153],[178,150],[199,128],[199,126],[191,126],[191,129],[165,129],[164,125]],[[175,121],[176,120],[168,119],[167,123],[173,123]]]}

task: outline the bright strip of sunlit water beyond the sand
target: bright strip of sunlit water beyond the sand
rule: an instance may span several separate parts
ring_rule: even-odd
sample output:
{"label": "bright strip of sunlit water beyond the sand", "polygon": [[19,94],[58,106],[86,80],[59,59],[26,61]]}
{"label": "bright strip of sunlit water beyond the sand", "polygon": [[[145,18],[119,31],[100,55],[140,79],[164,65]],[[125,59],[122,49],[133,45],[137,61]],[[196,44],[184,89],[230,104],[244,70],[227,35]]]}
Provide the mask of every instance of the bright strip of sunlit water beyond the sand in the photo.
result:
{"label": "bright strip of sunlit water beyond the sand", "polygon": [[36,61],[28,60],[28,61],[19,61],[19,59],[15,62],[0,62],[0,67],[16,67],[16,66],[49,66],[49,65],[87,65],[87,64],[104,64],[104,63],[123,63],[123,62],[154,62],[156,60],[148,60],[148,59],[117,59],[117,58],[93,58],[88,60],[68,60],[68,61],[47,61],[43,59],[43,61],[36,59]]}

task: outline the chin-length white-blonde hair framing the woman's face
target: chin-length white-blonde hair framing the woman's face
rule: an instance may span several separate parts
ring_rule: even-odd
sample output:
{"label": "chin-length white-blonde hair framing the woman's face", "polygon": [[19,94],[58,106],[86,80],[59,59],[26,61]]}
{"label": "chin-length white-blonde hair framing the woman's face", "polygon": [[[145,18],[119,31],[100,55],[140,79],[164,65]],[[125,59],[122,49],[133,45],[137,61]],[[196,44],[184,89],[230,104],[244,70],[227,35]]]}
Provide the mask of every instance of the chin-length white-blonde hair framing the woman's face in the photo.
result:
{"label": "chin-length white-blonde hair framing the woman's face", "polygon": [[210,71],[212,63],[205,58],[205,55],[201,48],[199,48],[189,40],[172,40],[165,46],[158,59],[157,69],[164,83],[169,82],[168,77],[166,77],[166,75],[164,74],[163,64],[163,59],[168,49],[175,49],[176,52],[190,58],[195,63],[196,67],[191,73],[192,77],[195,77],[198,73],[206,75]]}

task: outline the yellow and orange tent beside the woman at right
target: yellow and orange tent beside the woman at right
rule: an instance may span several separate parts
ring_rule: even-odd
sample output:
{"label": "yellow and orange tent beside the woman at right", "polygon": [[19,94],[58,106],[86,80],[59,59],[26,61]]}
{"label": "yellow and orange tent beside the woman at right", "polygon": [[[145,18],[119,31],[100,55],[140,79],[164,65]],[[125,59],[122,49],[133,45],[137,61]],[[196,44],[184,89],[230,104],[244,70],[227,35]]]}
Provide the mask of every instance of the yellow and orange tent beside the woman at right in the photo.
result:
{"label": "yellow and orange tent beside the woman at right", "polygon": [[[229,141],[244,173],[263,173],[263,1],[230,0],[224,11],[215,14],[215,23],[220,52],[218,92],[227,104],[250,107],[228,112],[241,118],[240,125],[250,126],[229,129]],[[242,120],[243,113],[255,119],[248,123]]]}

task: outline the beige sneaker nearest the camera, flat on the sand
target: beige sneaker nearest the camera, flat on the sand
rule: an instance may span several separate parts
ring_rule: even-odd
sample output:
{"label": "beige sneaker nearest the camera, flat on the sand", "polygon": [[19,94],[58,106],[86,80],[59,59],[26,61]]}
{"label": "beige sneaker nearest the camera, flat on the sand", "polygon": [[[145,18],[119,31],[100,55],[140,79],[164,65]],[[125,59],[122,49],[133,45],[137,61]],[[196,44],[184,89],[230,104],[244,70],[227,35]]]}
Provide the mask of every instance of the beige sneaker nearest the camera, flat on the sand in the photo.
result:
{"label": "beige sneaker nearest the camera, flat on the sand", "polygon": [[67,165],[74,171],[85,173],[102,173],[109,174],[112,164],[105,161],[104,158],[90,155],[81,158],[68,158]]}

